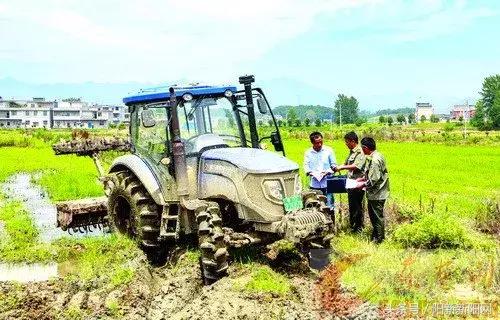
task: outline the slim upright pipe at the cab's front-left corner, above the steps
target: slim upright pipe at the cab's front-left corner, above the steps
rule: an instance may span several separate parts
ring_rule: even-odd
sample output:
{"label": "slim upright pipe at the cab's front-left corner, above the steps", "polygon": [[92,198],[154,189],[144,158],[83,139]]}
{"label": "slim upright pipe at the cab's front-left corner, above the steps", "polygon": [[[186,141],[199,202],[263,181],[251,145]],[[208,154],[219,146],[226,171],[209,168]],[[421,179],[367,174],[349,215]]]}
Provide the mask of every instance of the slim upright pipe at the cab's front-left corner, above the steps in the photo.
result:
{"label": "slim upright pipe at the cab's front-left corner, above the steps", "polygon": [[174,88],[170,88],[169,92],[172,116],[170,134],[172,137],[172,153],[174,155],[174,171],[175,178],[177,180],[177,194],[181,198],[187,198],[189,195],[189,189],[187,178],[186,151],[184,150],[184,144],[181,141],[179,116],[177,113],[178,102],[175,96]]}

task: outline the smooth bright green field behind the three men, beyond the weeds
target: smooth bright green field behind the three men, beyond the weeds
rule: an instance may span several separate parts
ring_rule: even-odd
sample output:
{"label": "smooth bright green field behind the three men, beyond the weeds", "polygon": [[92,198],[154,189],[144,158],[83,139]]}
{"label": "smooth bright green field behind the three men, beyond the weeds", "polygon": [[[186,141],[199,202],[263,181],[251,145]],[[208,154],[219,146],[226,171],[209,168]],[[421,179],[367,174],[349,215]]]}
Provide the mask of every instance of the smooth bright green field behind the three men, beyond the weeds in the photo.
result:
{"label": "smooth bright green field behind the three men, beyond the weeds", "polygon": [[[325,145],[333,147],[337,162],[345,160],[348,150],[343,141],[325,140]],[[309,147],[308,140],[285,141],[287,157],[301,166]],[[498,147],[382,141],[377,149],[386,158],[391,198],[397,203],[473,218],[485,199],[500,195]],[[302,170],[301,174],[308,185]]]}

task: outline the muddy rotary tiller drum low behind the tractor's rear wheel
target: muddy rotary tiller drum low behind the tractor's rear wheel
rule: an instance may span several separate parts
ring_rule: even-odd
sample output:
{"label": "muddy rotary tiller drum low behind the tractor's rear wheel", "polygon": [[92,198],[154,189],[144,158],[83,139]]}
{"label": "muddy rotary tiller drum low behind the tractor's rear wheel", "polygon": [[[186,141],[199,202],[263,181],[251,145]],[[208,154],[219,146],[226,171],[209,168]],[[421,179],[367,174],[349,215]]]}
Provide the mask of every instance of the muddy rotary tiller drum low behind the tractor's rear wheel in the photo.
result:
{"label": "muddy rotary tiller drum low behind the tractor's rear wheel", "polygon": [[59,202],[57,227],[73,232],[92,232],[107,225],[107,197]]}

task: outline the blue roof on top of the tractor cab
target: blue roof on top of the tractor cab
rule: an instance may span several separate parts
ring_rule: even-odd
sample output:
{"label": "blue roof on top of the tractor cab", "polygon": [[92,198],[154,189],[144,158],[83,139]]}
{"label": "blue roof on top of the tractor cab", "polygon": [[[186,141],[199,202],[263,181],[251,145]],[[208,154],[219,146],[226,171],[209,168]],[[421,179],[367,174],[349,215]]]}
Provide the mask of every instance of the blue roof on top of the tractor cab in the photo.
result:
{"label": "blue roof on top of the tractor cab", "polygon": [[[223,96],[228,90],[233,93],[236,92],[236,87],[234,86],[188,86],[188,87],[178,87],[172,86],[175,90],[175,95],[177,97],[182,97],[186,93],[189,93],[196,98],[198,96]],[[139,92],[133,96],[123,98],[123,103],[127,106],[135,105],[138,103],[152,103],[166,101],[170,99],[170,86],[156,87],[141,89]]]}

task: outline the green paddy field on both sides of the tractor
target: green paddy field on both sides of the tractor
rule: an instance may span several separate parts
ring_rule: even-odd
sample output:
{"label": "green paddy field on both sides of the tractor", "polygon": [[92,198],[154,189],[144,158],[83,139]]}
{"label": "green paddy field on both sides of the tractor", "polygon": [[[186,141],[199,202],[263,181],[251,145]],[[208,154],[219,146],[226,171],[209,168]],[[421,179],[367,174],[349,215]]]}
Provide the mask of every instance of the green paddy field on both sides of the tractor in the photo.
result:
{"label": "green paddy field on both sides of the tractor", "polygon": [[[116,134],[97,132],[110,133]],[[310,147],[308,139],[293,132],[284,136],[287,157],[302,166],[304,151]],[[102,195],[90,158],[53,154],[51,144],[69,137],[68,131],[0,131],[0,183],[27,172],[34,174],[34,181],[52,201]],[[339,137],[342,134],[325,135],[324,143],[342,163],[348,149]],[[488,139],[477,143],[377,140],[391,184],[385,213],[387,239],[381,245],[370,243],[369,221],[361,234],[340,229],[333,240],[332,259],[342,271],[345,287],[379,304],[498,302],[500,144],[497,138]],[[105,155],[104,162],[109,164],[115,156]],[[302,170],[301,174],[307,185]],[[337,195],[336,202],[345,204],[346,196]],[[0,220],[12,219],[16,210],[22,212],[22,206],[3,205]],[[12,256],[11,249],[0,246],[2,250],[0,259]],[[61,252],[44,251],[40,256],[60,259]]]}

